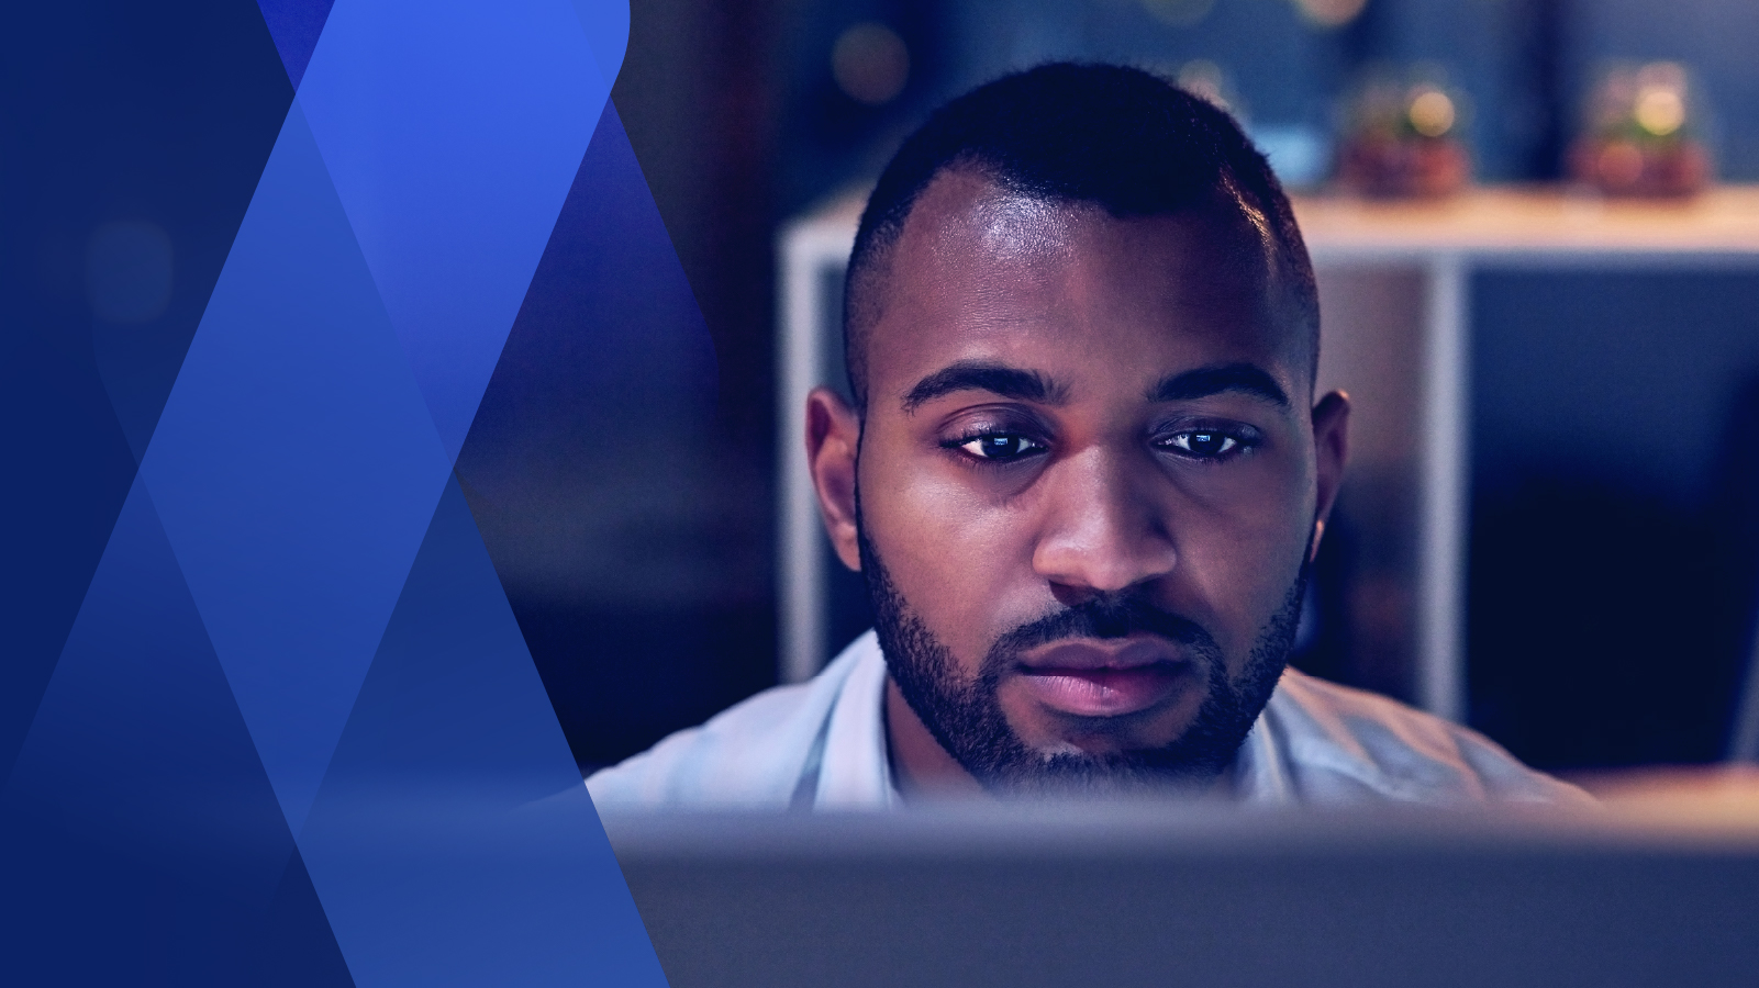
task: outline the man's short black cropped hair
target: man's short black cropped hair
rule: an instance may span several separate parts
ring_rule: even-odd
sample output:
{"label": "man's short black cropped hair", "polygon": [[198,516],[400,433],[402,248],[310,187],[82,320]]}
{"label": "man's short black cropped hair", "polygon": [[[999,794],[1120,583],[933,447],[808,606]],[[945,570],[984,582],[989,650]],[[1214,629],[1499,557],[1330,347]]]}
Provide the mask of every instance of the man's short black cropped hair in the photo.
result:
{"label": "man's short black cropped hair", "polygon": [[1231,204],[1261,220],[1319,362],[1319,295],[1295,209],[1265,156],[1226,111],[1122,65],[1055,62],[971,90],[938,109],[880,174],[850,251],[843,345],[850,392],[867,406],[867,276],[885,262],[922,192],[974,169],[1010,192],[1092,202],[1113,216]]}

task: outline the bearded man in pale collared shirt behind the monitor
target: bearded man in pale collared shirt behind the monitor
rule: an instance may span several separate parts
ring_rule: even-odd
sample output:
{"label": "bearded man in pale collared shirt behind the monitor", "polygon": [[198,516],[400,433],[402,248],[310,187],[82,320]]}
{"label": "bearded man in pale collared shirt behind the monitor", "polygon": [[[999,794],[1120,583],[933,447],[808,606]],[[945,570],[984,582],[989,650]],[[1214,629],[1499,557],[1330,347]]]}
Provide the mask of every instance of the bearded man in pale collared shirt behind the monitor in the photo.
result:
{"label": "bearded man in pale collared shirt behind the monitor", "polygon": [[600,805],[1583,798],[1286,670],[1349,403],[1314,401],[1312,265],[1219,109],[1101,65],[948,104],[872,192],[844,331],[855,406],[814,390],[806,445],[874,633]]}

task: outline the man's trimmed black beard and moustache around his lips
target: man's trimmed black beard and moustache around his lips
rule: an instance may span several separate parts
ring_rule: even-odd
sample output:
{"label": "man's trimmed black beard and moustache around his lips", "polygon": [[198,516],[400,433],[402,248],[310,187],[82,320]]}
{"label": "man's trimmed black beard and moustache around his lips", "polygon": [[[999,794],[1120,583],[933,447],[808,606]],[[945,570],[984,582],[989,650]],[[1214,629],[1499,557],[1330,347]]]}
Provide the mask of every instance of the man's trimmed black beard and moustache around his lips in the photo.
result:
{"label": "man's trimmed black beard and moustache around his lips", "polygon": [[[1277,612],[1259,629],[1237,677],[1215,638],[1196,622],[1154,607],[1143,591],[1094,596],[1001,635],[976,677],[964,677],[952,650],[897,592],[857,520],[862,575],[887,670],[934,738],[985,789],[1006,795],[1191,793],[1208,788],[1235,759],[1288,666],[1300,622],[1309,566],[1303,563]],[[1119,752],[1038,751],[1008,724],[997,701],[1001,679],[1025,650],[1064,638],[1159,635],[1182,647],[1205,680],[1191,724],[1170,744]]]}

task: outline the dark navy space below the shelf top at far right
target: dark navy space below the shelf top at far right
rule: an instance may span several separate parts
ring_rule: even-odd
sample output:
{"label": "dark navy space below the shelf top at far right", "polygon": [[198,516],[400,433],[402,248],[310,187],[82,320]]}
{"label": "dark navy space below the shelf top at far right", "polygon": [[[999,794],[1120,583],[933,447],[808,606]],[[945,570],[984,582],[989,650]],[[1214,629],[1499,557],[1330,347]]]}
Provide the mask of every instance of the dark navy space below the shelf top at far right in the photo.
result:
{"label": "dark navy space below the shelf top at far right", "polygon": [[1759,603],[1759,271],[1474,297],[1474,724],[1548,766],[1719,759]]}

